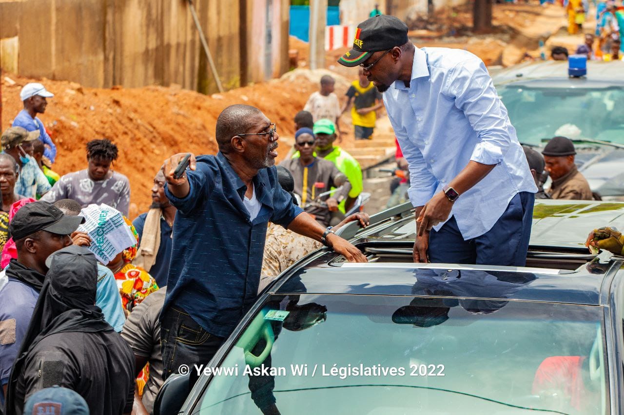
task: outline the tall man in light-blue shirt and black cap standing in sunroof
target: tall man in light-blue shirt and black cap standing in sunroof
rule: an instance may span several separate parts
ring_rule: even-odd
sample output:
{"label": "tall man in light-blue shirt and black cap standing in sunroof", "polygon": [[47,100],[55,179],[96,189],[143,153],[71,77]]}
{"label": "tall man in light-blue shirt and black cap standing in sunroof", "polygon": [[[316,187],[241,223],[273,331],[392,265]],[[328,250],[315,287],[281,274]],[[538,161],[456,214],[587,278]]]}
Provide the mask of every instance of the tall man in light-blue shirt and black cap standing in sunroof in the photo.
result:
{"label": "tall man in light-blue shirt and black cap standing in sunroof", "polygon": [[396,17],[359,24],[338,62],[361,65],[409,163],[415,262],[525,265],[535,182],[483,62],[415,47]]}

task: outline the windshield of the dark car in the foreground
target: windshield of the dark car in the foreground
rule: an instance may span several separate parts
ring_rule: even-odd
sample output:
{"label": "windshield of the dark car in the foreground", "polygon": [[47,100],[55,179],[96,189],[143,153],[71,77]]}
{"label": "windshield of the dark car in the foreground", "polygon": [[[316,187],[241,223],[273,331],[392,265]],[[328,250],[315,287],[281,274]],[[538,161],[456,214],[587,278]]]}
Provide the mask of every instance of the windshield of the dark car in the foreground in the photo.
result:
{"label": "windshield of the dark car in the foreground", "polygon": [[601,316],[513,300],[273,295],[193,414],[605,414]]}

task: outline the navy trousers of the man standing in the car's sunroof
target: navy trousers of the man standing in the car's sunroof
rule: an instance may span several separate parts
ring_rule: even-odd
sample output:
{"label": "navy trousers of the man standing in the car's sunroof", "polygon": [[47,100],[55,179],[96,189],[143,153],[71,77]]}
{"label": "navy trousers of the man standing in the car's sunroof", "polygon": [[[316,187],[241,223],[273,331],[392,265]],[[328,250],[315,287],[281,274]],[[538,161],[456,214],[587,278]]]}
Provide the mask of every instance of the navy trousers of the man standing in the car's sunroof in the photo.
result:
{"label": "navy trousers of the man standing in the car's sunroof", "polygon": [[535,194],[517,193],[492,229],[464,241],[455,217],[429,234],[430,262],[524,267],[531,235]]}

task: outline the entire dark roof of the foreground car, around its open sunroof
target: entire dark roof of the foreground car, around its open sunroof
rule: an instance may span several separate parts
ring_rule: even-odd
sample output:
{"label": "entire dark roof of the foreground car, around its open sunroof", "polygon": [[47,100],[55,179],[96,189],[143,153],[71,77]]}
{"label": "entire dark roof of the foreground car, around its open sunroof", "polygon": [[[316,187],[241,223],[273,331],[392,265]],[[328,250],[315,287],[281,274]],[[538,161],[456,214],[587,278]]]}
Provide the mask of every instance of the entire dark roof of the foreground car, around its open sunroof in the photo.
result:
{"label": "entire dark roof of the foreground car, around its open sunroof", "polygon": [[[623,214],[624,203],[539,200],[535,202],[530,244],[590,257],[584,247],[587,234],[601,226],[620,224],[622,229]],[[409,203],[394,207],[372,216],[369,228],[351,234],[354,229],[349,225],[339,233],[365,253],[409,250],[414,243],[413,208]],[[321,249],[286,270],[270,291],[412,296],[419,295],[414,287],[424,279],[450,287],[443,290],[444,297],[601,305],[603,281],[612,278],[620,265],[622,259],[607,251],[575,270],[409,262],[350,264]],[[501,290],[501,285],[509,290]]]}

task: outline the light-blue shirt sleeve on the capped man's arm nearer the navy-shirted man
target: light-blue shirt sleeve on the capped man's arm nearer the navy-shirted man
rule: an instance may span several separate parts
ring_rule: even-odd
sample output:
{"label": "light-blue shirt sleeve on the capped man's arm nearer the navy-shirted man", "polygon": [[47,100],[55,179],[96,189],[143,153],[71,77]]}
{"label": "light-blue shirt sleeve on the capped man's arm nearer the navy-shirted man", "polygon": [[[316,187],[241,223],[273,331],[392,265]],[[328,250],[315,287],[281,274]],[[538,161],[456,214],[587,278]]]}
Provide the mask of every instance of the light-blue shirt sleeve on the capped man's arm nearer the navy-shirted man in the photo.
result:
{"label": "light-blue shirt sleeve on the capped man's arm nearer the navy-shirted man", "polygon": [[389,113],[388,118],[394,129],[394,135],[399,141],[403,156],[409,165],[410,186],[407,190],[409,200],[414,207],[424,206],[436,193],[437,179],[427,169],[421,151],[409,140],[406,129],[394,122]]}

